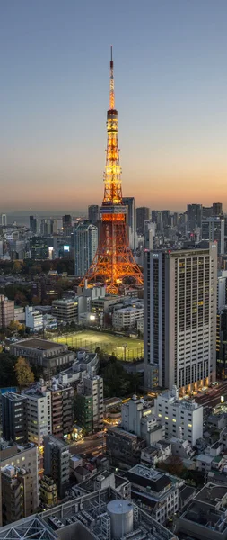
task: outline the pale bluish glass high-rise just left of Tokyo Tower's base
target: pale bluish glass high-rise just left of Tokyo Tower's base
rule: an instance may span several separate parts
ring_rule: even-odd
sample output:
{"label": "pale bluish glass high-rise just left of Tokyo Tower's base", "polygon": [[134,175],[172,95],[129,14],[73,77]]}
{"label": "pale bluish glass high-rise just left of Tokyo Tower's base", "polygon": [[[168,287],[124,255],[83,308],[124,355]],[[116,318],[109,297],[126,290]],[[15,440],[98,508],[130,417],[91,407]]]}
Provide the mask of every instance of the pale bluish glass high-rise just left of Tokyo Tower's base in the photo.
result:
{"label": "pale bluish glass high-rise just left of Tokyo Tower's base", "polygon": [[77,277],[86,274],[98,247],[98,229],[89,221],[79,223],[74,229],[74,273]]}

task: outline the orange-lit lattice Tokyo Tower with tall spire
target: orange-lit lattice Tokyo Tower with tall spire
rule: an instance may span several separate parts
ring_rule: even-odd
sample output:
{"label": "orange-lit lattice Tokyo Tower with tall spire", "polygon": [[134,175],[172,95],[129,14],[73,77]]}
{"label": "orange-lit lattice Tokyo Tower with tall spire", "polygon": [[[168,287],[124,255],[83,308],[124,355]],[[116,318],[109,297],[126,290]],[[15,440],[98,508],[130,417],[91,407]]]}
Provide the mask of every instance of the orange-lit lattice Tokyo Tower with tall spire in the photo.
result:
{"label": "orange-lit lattice Tokyo Tower with tall spire", "polygon": [[[122,202],[121,167],[118,150],[118,111],[115,109],[113,58],[111,47],[109,110],[104,197],[100,207],[100,238],[96,255],[80,286],[102,282],[107,293],[118,294],[129,283],[143,284],[127,238],[127,207]],[[127,280],[126,280],[127,278]]]}

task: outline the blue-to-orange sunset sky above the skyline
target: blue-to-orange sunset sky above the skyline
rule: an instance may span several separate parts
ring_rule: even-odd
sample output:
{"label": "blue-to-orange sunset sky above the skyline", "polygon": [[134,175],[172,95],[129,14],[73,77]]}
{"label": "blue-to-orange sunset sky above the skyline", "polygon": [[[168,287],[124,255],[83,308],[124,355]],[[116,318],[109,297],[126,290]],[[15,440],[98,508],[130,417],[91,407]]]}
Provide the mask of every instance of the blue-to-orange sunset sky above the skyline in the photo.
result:
{"label": "blue-to-orange sunset sky above the skyline", "polygon": [[2,0],[1,211],[100,204],[113,44],[122,187],[227,211],[226,0]]}

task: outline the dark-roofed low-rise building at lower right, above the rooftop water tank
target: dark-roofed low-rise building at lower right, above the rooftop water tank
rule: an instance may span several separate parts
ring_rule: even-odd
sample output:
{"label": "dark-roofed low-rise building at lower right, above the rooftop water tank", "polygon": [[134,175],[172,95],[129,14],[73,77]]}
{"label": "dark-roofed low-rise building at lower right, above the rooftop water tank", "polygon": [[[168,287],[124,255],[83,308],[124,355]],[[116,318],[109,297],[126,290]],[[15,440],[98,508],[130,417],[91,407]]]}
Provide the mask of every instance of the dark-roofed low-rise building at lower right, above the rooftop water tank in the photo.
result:
{"label": "dark-roofed low-rise building at lower right, above the rooftop water tank", "polygon": [[141,464],[130,469],[127,476],[132,500],[165,525],[179,509],[179,486],[184,482]]}

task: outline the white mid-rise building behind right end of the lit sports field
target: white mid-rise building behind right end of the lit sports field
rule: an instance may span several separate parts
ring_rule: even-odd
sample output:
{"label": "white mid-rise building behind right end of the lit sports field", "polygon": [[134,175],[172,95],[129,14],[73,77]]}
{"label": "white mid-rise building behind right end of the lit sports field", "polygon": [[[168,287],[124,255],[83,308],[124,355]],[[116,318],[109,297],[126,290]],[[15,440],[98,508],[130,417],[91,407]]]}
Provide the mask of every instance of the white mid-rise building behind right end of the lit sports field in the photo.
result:
{"label": "white mid-rise building behind right end of the lit sports field", "polygon": [[144,304],[136,302],[136,307],[128,306],[114,311],[112,326],[118,331],[135,329],[141,320],[144,320]]}

